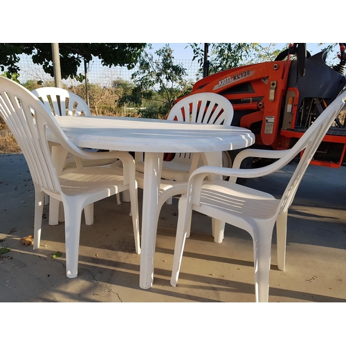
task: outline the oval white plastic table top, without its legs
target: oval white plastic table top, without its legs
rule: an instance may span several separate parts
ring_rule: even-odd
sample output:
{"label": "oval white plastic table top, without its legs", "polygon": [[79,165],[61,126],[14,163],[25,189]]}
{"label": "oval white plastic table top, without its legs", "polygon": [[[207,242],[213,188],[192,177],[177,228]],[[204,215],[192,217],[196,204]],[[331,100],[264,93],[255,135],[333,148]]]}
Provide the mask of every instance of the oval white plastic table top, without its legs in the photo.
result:
{"label": "oval white plastic table top, without its legs", "polygon": [[[242,127],[122,117],[55,117],[78,147],[129,152],[219,152],[249,147],[253,133]],[[48,140],[53,140],[48,133]]]}

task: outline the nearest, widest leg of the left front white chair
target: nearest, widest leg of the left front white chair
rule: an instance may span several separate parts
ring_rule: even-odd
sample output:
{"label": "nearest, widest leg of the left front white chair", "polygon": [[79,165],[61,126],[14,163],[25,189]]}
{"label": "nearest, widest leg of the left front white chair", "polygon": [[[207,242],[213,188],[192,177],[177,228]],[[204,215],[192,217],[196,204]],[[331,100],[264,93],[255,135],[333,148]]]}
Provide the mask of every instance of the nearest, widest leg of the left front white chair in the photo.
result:
{"label": "nearest, widest leg of the left front white chair", "polygon": [[[69,201],[69,200],[68,200]],[[80,246],[80,221],[82,206],[80,201],[71,199],[64,201],[65,213],[65,247],[66,247],[66,276],[72,279],[78,275],[78,253]]]}

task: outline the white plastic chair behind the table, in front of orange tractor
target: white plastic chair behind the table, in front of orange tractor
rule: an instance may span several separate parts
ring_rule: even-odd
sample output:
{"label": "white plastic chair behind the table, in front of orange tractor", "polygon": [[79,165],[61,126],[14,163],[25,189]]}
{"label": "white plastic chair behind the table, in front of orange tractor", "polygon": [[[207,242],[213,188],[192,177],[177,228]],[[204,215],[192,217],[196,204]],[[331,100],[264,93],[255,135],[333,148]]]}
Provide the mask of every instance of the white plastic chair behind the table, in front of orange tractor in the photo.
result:
{"label": "white plastic chair behind the table, in front of orange tractor", "polygon": [[[233,113],[232,104],[224,96],[217,93],[197,93],[174,104],[167,120],[230,126]],[[161,177],[188,181],[190,174],[201,164],[200,154],[176,153],[172,161],[163,161]],[[136,170],[144,172],[143,154],[136,153]]]}

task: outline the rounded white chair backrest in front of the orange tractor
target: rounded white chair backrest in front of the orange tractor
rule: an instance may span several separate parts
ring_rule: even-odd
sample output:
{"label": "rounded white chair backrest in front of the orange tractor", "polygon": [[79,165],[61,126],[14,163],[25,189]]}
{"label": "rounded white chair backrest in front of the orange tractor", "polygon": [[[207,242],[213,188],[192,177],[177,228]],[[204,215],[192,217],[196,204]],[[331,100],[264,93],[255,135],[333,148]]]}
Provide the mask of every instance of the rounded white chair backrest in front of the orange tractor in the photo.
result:
{"label": "rounded white chair backrest in front of the orange tractor", "polygon": [[172,107],[167,120],[230,125],[233,106],[218,93],[188,95]]}

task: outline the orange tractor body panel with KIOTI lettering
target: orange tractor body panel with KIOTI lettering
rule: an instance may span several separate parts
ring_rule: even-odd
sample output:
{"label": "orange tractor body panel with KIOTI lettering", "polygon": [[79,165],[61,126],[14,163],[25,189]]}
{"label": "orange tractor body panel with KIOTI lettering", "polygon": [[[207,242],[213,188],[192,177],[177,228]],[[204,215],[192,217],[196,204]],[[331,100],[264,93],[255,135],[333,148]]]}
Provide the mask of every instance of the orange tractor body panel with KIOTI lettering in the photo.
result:
{"label": "orange tractor body panel with KIOTI lettering", "polygon": [[[222,71],[217,73],[217,75],[210,75],[196,82],[192,89],[192,93],[220,93],[232,102],[235,111],[257,110],[248,114],[248,116],[244,116],[241,120],[241,126],[249,128],[251,123],[263,120],[260,136],[261,142],[264,145],[273,145],[277,142],[282,98],[286,93],[290,64],[291,60],[286,60],[284,62],[263,62],[261,64],[253,64]],[[231,87],[236,88],[246,82],[251,83],[252,92],[227,92]],[[261,100],[260,102],[254,102],[253,98],[261,98]],[[237,100],[246,100],[247,102],[237,104]],[[267,117],[270,117],[273,122],[271,133],[266,131]]]}

